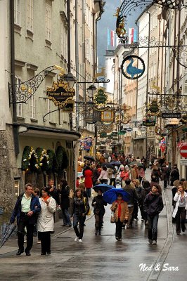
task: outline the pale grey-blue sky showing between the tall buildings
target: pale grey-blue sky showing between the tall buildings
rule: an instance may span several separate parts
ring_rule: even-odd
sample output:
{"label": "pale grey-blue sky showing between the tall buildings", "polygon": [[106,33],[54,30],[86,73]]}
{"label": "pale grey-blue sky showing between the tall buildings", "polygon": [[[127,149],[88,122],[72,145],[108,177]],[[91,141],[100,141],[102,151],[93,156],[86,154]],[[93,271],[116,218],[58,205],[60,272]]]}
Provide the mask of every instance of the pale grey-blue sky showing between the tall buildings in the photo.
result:
{"label": "pale grey-blue sky showing between the tall buildings", "polygon": [[[105,58],[103,55],[105,55],[105,51],[107,49],[108,39],[108,28],[109,30],[115,30],[116,25],[116,16],[115,14],[117,7],[120,7],[122,4],[121,0],[105,0],[106,4],[104,6],[105,12],[101,16],[101,20],[98,21],[98,67],[105,67]],[[135,20],[138,18],[138,15],[140,15],[140,11],[137,11],[136,13],[133,12],[133,15],[128,18],[127,27],[135,27]]]}

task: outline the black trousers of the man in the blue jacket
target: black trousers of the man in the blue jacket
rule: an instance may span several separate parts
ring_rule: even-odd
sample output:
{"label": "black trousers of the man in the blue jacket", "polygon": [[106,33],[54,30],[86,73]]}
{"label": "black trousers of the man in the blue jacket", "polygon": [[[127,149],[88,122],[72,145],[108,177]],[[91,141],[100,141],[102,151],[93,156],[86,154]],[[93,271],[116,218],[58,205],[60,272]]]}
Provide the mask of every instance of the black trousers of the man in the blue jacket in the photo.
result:
{"label": "black trousers of the man in the blue jacket", "polygon": [[27,228],[27,247],[25,251],[30,251],[33,244],[34,224],[30,224],[30,217],[21,212],[18,223],[18,247],[21,251],[24,250],[25,227]]}

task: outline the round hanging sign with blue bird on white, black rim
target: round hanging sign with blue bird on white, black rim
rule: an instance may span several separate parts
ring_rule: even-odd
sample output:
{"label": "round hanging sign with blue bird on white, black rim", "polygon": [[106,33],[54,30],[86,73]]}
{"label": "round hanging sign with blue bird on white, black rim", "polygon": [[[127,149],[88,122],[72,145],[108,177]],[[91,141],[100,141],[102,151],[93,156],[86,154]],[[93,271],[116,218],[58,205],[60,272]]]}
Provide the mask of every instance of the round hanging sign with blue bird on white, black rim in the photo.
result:
{"label": "round hanging sign with blue bird on white, black rim", "polygon": [[127,79],[138,79],[145,72],[146,66],[142,58],[137,55],[128,55],[122,61],[121,69]]}

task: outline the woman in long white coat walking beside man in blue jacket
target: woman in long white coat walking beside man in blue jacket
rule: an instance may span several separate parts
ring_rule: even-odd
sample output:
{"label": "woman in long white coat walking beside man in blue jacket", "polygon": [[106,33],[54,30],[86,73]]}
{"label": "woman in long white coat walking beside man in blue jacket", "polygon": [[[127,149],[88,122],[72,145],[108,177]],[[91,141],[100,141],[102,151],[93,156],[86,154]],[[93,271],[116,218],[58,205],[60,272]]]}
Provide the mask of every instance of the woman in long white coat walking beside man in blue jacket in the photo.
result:
{"label": "woman in long white coat walking beside man in blue jacket", "polygon": [[49,197],[47,188],[42,188],[39,202],[41,211],[38,217],[38,232],[41,237],[41,255],[46,255],[51,254],[51,231],[54,231],[53,213],[56,211],[56,200]]}

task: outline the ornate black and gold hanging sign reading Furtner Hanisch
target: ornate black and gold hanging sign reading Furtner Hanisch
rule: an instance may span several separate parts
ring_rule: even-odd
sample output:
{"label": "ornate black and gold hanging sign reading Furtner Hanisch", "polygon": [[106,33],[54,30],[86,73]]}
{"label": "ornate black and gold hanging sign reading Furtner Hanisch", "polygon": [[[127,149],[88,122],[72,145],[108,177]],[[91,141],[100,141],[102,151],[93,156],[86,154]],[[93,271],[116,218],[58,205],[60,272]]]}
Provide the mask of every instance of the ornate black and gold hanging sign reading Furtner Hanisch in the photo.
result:
{"label": "ornate black and gold hanging sign reading Furtner Hanisch", "polygon": [[67,82],[59,79],[57,82],[53,82],[51,88],[46,89],[46,94],[49,96],[49,100],[58,106],[60,109],[64,108],[66,112],[72,112],[74,110],[75,89],[69,88]]}

